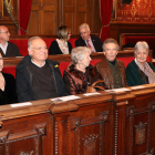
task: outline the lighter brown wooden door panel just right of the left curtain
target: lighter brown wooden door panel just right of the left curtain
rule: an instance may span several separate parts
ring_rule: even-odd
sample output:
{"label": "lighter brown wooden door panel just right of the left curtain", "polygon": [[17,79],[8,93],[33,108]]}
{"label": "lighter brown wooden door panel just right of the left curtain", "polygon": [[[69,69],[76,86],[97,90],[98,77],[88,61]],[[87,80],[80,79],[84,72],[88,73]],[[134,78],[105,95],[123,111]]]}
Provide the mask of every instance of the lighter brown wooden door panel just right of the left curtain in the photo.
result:
{"label": "lighter brown wooden door panel just right of the left curtain", "polygon": [[[33,10],[38,10],[38,21],[34,24]],[[32,19],[32,20],[31,20]],[[34,24],[34,29],[29,30],[27,34],[55,34],[58,29],[58,1],[56,0],[32,0],[32,9],[29,25]],[[35,33],[37,32],[37,33]]]}

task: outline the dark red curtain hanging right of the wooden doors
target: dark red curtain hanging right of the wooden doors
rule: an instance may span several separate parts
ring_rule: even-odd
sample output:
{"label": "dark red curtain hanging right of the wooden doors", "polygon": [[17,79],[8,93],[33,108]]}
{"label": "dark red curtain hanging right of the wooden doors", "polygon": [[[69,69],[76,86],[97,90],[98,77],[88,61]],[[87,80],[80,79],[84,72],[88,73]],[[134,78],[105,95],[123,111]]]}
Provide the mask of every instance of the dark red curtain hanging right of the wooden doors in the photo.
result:
{"label": "dark red curtain hanging right of the wooden doors", "polygon": [[113,9],[113,0],[100,0],[102,29],[100,33],[101,40],[110,38],[110,21]]}

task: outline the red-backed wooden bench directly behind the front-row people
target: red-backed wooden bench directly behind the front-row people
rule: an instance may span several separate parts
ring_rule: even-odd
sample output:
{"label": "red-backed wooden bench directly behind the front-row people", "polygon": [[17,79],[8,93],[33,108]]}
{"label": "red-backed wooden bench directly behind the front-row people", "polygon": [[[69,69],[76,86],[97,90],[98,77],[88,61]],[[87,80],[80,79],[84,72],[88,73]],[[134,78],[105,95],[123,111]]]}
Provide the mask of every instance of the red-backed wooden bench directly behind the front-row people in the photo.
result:
{"label": "red-backed wooden bench directly behind the front-row people", "polygon": [[[102,60],[103,56],[104,56],[103,52],[97,52],[97,53],[91,54],[91,58],[92,58],[91,64],[95,65],[99,61]],[[22,56],[21,58],[4,58],[3,59],[3,63],[4,63],[3,72],[11,73],[13,76],[16,76],[16,66],[17,66],[17,64],[20,63],[20,61],[22,59],[23,59]],[[68,65],[71,62],[70,54],[49,55],[49,59],[60,62],[59,68],[60,68],[62,75],[63,75],[63,71],[68,68]],[[123,61],[125,64],[125,68],[126,68],[127,64],[134,60],[134,52],[133,51],[118,51],[117,59]],[[148,56],[147,61],[152,62],[152,50],[149,51],[149,56]]]}

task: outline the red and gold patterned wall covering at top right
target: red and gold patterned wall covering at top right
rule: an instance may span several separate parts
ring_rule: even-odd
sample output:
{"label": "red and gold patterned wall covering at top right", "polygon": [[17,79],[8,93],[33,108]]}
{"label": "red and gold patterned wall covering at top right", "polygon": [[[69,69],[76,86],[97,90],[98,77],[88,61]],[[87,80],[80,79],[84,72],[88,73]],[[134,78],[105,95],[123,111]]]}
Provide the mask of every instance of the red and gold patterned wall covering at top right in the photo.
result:
{"label": "red and gold patterned wall covering at top right", "polygon": [[123,4],[117,0],[116,20],[123,22],[155,22],[155,0],[133,0]]}

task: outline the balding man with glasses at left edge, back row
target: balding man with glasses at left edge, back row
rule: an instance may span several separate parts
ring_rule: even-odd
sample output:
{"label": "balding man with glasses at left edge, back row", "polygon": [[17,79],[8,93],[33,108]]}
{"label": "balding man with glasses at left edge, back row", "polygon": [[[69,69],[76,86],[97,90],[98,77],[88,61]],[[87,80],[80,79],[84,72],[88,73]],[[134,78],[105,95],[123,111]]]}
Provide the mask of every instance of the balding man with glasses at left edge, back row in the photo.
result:
{"label": "balding man with glasses at left edge, back row", "polygon": [[3,58],[21,56],[19,48],[9,42],[9,30],[4,25],[0,25],[0,51]]}

